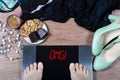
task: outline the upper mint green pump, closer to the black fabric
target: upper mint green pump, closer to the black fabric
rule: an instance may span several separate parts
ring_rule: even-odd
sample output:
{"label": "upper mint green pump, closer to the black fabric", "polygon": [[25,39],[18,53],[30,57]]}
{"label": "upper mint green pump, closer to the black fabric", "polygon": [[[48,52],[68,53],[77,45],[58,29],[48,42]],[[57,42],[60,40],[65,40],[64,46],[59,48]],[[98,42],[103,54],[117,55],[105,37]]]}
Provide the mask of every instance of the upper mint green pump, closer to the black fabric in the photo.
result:
{"label": "upper mint green pump, closer to the black fabric", "polygon": [[97,56],[103,47],[116,36],[120,35],[120,19],[98,29],[94,33],[92,42],[92,53]]}

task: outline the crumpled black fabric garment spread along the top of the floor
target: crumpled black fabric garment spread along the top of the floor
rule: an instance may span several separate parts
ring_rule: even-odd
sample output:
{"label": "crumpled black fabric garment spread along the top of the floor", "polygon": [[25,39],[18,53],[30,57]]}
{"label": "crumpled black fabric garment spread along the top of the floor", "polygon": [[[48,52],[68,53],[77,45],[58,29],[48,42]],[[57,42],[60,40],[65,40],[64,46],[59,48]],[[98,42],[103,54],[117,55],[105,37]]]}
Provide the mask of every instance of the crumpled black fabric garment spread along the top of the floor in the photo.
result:
{"label": "crumpled black fabric garment spread along the top of the floor", "polygon": [[69,18],[74,18],[79,26],[96,31],[110,23],[108,15],[113,10],[120,9],[120,0],[53,0],[52,3],[31,14],[30,12],[40,4],[40,1],[19,0],[23,11],[22,19],[38,18],[66,22]]}

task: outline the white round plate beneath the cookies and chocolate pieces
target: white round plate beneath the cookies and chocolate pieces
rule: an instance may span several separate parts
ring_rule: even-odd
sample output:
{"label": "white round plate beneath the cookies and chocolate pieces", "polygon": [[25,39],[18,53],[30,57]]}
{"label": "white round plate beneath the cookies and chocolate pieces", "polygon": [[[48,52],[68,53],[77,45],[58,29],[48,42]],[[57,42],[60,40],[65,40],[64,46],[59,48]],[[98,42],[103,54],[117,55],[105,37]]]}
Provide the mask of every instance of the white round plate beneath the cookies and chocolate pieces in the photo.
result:
{"label": "white round plate beneath the cookies and chocolate pieces", "polygon": [[[48,28],[47,28],[47,26],[46,26],[45,23],[43,23],[42,28],[43,28],[46,32],[48,32]],[[31,42],[31,40],[30,40],[29,37],[24,37],[24,39],[25,39],[25,41],[28,42],[29,44],[40,44],[40,43],[42,43],[43,41],[46,40],[46,38],[44,38],[44,39],[38,40],[37,42]]]}

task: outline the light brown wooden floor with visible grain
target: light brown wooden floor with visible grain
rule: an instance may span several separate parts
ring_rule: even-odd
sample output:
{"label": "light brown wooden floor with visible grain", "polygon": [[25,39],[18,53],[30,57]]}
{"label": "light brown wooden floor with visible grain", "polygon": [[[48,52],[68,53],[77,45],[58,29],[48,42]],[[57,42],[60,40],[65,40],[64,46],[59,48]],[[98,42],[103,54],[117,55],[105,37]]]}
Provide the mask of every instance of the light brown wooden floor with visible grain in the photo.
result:
{"label": "light brown wooden floor with visible grain", "polygon": [[[20,8],[10,13],[0,13],[0,20],[6,23],[10,14],[18,14]],[[91,45],[93,33],[79,27],[73,19],[66,23],[45,21],[50,36],[41,45]],[[24,41],[24,44],[27,43]],[[20,80],[22,60],[9,61],[0,55],[0,80]],[[120,80],[120,59],[104,71],[94,72],[94,80]]]}

